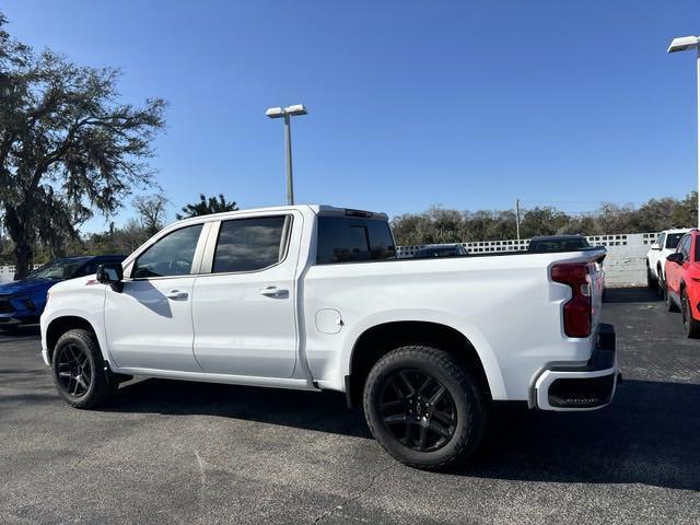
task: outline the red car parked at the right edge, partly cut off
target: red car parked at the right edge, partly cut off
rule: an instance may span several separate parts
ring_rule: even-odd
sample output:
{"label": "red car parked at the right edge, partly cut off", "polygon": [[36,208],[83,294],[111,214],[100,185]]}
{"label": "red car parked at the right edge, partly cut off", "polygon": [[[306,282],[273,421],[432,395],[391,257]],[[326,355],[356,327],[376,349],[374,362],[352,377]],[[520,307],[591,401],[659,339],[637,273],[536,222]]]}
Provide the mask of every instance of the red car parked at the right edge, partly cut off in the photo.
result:
{"label": "red car parked at the right edge, partly cut off", "polygon": [[688,337],[700,337],[700,231],[686,233],[676,252],[666,257],[665,299],[669,312],[682,314]]}

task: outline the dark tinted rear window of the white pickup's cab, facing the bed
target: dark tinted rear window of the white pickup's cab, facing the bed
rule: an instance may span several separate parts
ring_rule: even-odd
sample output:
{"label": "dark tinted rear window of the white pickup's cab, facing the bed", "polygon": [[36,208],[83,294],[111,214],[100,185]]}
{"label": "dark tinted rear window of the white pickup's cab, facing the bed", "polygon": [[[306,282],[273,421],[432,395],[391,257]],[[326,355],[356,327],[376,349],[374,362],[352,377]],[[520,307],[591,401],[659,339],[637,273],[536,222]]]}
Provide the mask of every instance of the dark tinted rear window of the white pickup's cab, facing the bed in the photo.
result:
{"label": "dark tinted rear window of the white pickup's cab, facing the bed", "polygon": [[396,259],[394,236],[386,220],[318,215],[317,265],[386,259]]}

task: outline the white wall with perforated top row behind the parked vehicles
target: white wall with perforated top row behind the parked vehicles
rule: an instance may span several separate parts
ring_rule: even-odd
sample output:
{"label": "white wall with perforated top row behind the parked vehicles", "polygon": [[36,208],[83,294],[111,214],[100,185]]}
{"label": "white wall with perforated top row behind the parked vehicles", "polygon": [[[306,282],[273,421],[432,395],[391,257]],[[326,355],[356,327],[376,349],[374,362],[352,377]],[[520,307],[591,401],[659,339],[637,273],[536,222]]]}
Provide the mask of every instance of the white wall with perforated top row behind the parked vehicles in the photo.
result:
{"label": "white wall with perforated top row behind the parked vehicles", "polygon": [[[592,246],[605,246],[608,256],[605,259],[606,284],[612,287],[634,287],[646,283],[644,259],[649,246],[656,240],[655,233],[621,233],[615,235],[592,235],[586,237]],[[513,252],[527,249],[529,238],[521,241],[480,241],[460,243],[470,254],[493,252]],[[421,246],[398,246],[399,257],[410,257]],[[14,266],[0,266],[0,282],[11,281]]]}

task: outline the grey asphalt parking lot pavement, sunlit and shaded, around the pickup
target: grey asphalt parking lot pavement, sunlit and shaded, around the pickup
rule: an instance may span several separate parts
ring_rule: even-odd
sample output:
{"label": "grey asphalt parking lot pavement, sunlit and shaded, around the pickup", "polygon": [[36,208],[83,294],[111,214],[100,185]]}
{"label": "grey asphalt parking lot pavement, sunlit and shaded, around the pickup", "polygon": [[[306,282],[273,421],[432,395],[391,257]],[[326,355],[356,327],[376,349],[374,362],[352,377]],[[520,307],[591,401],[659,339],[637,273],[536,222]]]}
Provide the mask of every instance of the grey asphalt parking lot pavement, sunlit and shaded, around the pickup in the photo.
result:
{"label": "grey asphalt parking lot pavement, sunlit and shaded, around the pickup", "polygon": [[501,410],[477,465],[393,460],[342,395],[148,380],[101,411],[0,336],[0,523],[700,523],[700,340],[610,290],[625,382],[595,412]]}

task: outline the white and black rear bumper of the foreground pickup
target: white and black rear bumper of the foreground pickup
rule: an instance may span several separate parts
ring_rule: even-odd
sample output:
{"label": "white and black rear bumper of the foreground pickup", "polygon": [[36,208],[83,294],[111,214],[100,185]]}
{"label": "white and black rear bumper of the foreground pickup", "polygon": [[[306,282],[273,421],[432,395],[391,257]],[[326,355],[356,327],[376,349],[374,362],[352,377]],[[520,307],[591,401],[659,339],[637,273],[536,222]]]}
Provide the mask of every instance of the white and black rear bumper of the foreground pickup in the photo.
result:
{"label": "white and black rear bumper of the foreground pickup", "polygon": [[595,410],[609,405],[618,380],[615,328],[600,324],[593,355],[584,366],[550,366],[535,382],[541,410]]}

